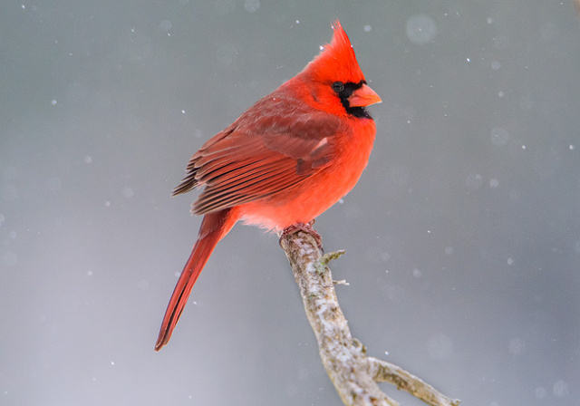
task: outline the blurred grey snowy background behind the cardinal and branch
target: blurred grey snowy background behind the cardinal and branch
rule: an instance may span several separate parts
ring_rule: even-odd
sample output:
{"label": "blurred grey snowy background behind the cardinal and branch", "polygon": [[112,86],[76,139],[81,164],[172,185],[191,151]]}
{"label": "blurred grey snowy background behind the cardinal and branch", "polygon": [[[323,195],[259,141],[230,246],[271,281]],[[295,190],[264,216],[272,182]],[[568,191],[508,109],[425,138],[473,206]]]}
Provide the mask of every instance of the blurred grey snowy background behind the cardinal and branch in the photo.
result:
{"label": "blurred grey snowy background behind the cardinal and branch", "polygon": [[6,2],[0,404],[340,403],[255,227],[153,352],[200,224],[171,189],[335,18],[383,100],[362,179],[316,222],[347,251],[353,335],[466,405],[579,404],[580,24],[558,0]]}

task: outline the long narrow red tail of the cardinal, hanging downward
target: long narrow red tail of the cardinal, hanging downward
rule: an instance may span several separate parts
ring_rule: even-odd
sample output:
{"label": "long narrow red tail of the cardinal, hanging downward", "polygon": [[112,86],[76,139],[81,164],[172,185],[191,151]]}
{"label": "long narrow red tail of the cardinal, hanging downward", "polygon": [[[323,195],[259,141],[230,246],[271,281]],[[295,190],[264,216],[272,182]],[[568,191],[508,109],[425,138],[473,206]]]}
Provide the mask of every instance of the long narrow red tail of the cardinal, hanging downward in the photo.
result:
{"label": "long narrow red tail of the cardinal, hanging downward", "polygon": [[181,276],[179,276],[178,284],[173,290],[173,295],[171,295],[165,311],[160,335],[155,343],[155,351],[160,351],[163,345],[169,343],[171,333],[173,333],[175,325],[178,324],[179,315],[188,302],[191,289],[198,280],[201,270],[208,262],[209,256],[219,240],[226,237],[238,219],[239,215],[236,208],[226,208],[204,216],[201,227],[199,227],[198,241],[191,251]]}

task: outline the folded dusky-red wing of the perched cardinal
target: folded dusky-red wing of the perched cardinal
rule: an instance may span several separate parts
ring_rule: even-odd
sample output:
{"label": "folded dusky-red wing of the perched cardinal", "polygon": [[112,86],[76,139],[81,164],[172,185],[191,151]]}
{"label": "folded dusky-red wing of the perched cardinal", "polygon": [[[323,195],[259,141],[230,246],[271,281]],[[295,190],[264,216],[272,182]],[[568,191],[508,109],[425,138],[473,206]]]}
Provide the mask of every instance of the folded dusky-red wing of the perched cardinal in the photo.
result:
{"label": "folded dusky-red wing of the perched cardinal", "polygon": [[189,160],[173,195],[205,185],[192,211],[205,214],[266,198],[328,166],[334,116],[292,111],[255,118],[258,105],[218,133]]}

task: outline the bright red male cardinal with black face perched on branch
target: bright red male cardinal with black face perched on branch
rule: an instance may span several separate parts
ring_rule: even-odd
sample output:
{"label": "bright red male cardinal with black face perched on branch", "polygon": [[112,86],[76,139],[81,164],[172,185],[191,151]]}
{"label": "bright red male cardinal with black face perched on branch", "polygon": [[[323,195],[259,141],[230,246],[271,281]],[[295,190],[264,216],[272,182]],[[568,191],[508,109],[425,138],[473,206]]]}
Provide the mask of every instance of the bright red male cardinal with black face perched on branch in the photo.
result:
{"label": "bright red male cardinal with black face perched on branch", "polygon": [[333,29],[332,42],[304,71],[208,140],[173,189],[175,196],[205,186],[191,209],[204,218],[156,351],[169,342],[199,273],[238,220],[290,232],[333,206],[361,177],[376,132],[365,107],[381,98],[364,80],[338,21]]}

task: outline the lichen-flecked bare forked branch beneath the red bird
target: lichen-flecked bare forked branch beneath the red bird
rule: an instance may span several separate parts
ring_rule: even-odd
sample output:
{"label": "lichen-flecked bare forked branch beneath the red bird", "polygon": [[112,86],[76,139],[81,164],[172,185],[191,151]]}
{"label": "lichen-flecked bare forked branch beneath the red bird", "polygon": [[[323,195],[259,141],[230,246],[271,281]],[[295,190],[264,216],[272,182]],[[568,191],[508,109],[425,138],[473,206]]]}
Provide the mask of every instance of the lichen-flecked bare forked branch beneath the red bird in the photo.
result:
{"label": "lichen-flecked bare forked branch beneath the red bird", "polygon": [[448,398],[400,367],[365,355],[362,343],[351,335],[334,293],[330,269],[326,266],[343,252],[322,256],[316,239],[304,231],[283,234],[280,245],[300,287],[324,368],[344,405],[398,405],[376,382],[390,382],[432,406],[459,405],[458,400]]}

